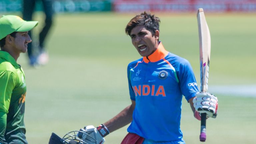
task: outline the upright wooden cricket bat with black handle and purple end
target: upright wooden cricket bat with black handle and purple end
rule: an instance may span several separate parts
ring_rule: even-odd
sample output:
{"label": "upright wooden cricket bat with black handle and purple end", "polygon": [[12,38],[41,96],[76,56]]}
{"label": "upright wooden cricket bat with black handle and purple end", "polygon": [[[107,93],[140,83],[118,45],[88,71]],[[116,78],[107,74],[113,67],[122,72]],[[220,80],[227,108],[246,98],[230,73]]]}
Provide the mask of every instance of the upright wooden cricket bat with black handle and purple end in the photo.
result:
{"label": "upright wooden cricket bat with black handle and purple end", "polygon": [[[199,33],[201,92],[207,92],[210,53],[211,53],[211,37],[210,37],[210,31],[204,16],[204,11],[202,8],[199,8],[197,11],[197,23],[198,23],[198,33]],[[201,113],[200,141],[205,142],[205,140],[206,140],[206,113]]]}

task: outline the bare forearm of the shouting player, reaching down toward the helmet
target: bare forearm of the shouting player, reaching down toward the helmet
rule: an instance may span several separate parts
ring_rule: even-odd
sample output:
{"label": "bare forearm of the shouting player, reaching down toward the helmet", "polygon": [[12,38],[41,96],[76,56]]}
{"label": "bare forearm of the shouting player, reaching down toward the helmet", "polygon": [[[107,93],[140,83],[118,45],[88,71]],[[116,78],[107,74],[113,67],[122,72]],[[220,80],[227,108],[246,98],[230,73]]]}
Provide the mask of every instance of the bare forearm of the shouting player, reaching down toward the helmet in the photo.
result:
{"label": "bare forearm of the shouting player, reaching down toward the helmet", "polygon": [[135,104],[131,104],[130,106],[122,110],[114,118],[104,123],[104,125],[108,128],[110,133],[131,123],[134,107]]}

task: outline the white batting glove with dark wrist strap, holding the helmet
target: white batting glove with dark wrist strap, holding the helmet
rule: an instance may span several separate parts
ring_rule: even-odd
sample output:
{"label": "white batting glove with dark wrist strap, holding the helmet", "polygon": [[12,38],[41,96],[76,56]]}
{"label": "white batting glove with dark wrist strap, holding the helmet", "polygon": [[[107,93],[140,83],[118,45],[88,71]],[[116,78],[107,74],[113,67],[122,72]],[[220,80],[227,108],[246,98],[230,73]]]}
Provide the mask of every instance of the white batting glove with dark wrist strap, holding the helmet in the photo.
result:
{"label": "white batting glove with dark wrist strap, holding the helmet", "polygon": [[80,129],[80,131],[86,134],[78,133],[78,137],[82,138],[83,141],[88,144],[103,144],[105,142],[103,137],[109,134],[107,127],[103,124],[99,125],[97,128],[89,125],[84,127],[84,129]]}

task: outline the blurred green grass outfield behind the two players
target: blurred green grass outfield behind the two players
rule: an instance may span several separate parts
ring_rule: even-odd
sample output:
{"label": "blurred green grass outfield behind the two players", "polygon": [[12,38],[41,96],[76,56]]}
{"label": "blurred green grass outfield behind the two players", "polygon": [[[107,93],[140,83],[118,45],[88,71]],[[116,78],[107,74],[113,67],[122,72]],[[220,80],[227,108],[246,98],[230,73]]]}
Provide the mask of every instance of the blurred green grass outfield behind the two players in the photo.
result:
{"label": "blurred green grass outfield behind the two players", "polygon": [[[199,40],[194,14],[156,14],[165,48],[188,59],[199,84]],[[256,80],[256,13],[205,14],[211,32],[209,85],[253,85]],[[22,65],[27,82],[25,124],[30,144],[46,144],[52,132],[63,136],[85,125],[97,126],[130,102],[126,67],[140,55],[124,28],[135,14],[58,14],[48,37],[50,63]],[[37,14],[41,22],[40,14]],[[38,28],[35,30],[38,31]],[[209,89],[209,91],[211,91]],[[205,144],[255,142],[256,98],[215,94],[216,119],[207,120]],[[106,137],[118,144],[126,128]],[[187,144],[198,144],[200,121],[183,99],[181,129]]]}

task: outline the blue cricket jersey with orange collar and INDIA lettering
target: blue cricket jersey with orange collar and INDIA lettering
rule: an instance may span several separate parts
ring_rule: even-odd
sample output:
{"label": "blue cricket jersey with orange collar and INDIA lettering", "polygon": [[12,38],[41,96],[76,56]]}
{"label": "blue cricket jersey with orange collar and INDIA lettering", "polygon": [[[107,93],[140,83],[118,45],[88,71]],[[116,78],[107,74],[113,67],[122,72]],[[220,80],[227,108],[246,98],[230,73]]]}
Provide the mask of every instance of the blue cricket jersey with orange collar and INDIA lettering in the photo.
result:
{"label": "blue cricket jersey with orange collar and INDIA lettering", "polygon": [[131,100],[136,101],[127,131],[153,141],[182,139],[182,95],[188,101],[198,92],[190,63],[159,43],[148,57],[128,65]]}

